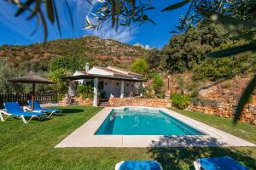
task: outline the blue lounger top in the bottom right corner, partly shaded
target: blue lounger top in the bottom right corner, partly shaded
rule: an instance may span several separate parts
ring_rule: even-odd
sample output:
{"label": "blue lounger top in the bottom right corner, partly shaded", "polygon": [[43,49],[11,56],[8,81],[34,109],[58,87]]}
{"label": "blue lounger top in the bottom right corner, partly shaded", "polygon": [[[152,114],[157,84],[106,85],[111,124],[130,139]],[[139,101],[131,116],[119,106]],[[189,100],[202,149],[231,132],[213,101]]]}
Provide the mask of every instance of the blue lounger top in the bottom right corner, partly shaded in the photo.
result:
{"label": "blue lounger top in the bottom right corner, partly shaded", "polygon": [[200,158],[194,161],[195,170],[248,170],[229,156]]}

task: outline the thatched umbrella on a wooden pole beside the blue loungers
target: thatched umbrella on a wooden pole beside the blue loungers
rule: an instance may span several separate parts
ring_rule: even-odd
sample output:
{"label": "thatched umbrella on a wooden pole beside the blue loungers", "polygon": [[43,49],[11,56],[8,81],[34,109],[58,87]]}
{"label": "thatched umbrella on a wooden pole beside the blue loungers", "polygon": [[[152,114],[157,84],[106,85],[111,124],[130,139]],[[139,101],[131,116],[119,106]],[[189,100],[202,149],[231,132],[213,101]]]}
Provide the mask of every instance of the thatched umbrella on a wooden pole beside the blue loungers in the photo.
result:
{"label": "thatched umbrella on a wooden pole beside the blue loungers", "polygon": [[10,78],[9,82],[32,83],[32,110],[34,110],[34,103],[36,97],[36,83],[54,84],[51,80],[41,77],[38,73],[30,72],[23,77]]}

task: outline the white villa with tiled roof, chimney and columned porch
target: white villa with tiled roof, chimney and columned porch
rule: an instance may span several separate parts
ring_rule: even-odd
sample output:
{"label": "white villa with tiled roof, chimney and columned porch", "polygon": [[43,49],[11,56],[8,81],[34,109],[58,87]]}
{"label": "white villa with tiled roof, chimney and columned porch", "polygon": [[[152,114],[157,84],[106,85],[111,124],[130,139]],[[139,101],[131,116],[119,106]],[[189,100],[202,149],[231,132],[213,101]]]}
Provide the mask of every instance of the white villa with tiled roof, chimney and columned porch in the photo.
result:
{"label": "white villa with tiled roof, chimney and columned porch", "polygon": [[69,95],[75,95],[75,86],[91,82],[94,87],[93,105],[97,106],[99,100],[108,100],[110,97],[125,98],[138,94],[138,88],[144,86],[143,75],[125,71],[113,66],[93,66],[88,63],[85,71],[75,71],[73,76],[67,77],[69,82]]}

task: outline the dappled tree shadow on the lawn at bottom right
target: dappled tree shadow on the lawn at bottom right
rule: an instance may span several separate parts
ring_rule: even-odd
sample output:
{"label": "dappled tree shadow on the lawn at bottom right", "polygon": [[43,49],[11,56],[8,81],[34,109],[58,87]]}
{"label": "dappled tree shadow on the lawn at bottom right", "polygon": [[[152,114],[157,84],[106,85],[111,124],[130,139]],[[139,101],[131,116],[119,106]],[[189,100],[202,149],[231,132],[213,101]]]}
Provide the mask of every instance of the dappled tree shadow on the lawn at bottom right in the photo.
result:
{"label": "dappled tree shadow on the lawn at bottom right", "polygon": [[[169,140],[169,141],[168,141]],[[171,141],[172,140],[172,141]],[[168,144],[166,144],[166,142]],[[159,161],[165,170],[169,169],[195,169],[193,161],[201,157],[230,156],[236,161],[240,161],[250,169],[256,169],[256,160],[249,156],[251,151],[242,147],[168,147],[178,141],[163,137],[159,142],[153,143],[148,148],[148,153],[152,159]],[[179,141],[182,142],[182,141]],[[160,144],[162,143],[162,144]],[[186,142],[185,142],[186,143]],[[166,146],[166,147],[164,147]]]}

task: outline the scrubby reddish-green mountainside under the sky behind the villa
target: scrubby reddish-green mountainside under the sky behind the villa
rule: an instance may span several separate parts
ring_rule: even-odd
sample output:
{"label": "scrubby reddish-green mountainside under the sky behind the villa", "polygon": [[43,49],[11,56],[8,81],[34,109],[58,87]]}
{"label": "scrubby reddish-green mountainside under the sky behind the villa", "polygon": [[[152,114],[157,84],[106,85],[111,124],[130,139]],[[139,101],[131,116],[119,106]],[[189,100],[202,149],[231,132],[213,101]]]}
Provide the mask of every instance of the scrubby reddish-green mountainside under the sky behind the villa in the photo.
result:
{"label": "scrubby reddish-green mountainside under the sky behind the villa", "polygon": [[93,36],[55,40],[46,44],[0,47],[0,58],[8,59],[13,68],[22,67],[27,63],[44,63],[45,70],[51,59],[61,56],[87,56],[95,65],[127,68],[134,59],[147,54],[148,51],[143,48]]}

